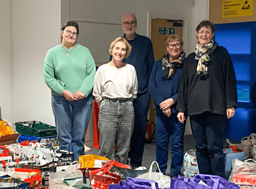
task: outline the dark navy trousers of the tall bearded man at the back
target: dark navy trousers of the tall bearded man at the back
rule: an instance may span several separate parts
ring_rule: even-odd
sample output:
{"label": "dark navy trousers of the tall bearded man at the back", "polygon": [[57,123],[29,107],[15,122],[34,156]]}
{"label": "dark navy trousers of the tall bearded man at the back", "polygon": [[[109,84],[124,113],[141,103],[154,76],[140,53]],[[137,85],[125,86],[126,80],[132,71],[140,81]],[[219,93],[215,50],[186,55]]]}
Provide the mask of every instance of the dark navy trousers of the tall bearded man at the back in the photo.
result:
{"label": "dark navy trousers of the tall bearded man at the back", "polygon": [[131,147],[128,154],[132,167],[139,167],[142,163],[149,104],[150,95],[148,91],[137,94],[137,98],[133,100],[135,119]]}

